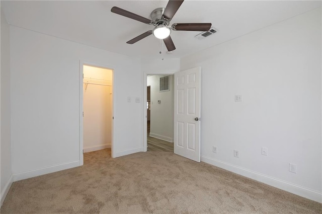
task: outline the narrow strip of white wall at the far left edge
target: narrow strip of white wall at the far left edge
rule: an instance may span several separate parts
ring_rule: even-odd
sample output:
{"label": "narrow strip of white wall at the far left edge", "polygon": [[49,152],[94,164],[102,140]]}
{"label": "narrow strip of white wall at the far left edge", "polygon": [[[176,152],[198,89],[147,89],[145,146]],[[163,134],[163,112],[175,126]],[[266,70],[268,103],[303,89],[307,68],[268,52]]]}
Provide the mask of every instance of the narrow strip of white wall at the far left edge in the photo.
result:
{"label": "narrow strip of white wall at the far left edge", "polygon": [[11,104],[10,104],[10,30],[7,20],[1,11],[1,126],[0,126],[0,142],[1,142],[1,204],[9,191],[13,177],[11,169]]}

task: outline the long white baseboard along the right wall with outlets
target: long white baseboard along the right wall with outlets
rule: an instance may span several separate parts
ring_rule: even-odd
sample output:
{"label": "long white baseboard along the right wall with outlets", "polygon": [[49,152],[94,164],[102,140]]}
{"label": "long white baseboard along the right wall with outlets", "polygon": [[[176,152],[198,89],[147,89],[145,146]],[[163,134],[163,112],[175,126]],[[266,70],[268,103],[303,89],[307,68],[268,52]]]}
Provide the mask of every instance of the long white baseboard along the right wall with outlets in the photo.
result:
{"label": "long white baseboard along the right wall with outlets", "polygon": [[274,186],[276,188],[291,192],[293,194],[308,198],[310,200],[317,201],[322,203],[322,192],[318,192],[312,189],[305,188],[303,186],[299,186],[293,183],[289,183],[277,178],[273,178],[258,172],[254,172],[239,166],[232,165],[230,163],[226,163],[223,161],[219,161],[213,158],[209,158],[206,156],[201,156],[201,161],[217,166],[219,168],[234,172],[239,175],[243,175],[245,177],[251,178],[253,180],[268,184],[270,186]]}

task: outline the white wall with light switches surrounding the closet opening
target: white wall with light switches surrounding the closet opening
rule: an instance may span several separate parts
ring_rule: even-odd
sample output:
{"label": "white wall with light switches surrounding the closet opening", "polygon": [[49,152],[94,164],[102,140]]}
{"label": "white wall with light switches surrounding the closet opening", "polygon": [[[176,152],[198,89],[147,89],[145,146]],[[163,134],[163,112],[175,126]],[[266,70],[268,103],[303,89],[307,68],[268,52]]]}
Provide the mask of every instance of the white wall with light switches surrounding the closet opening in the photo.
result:
{"label": "white wall with light switches surrounding the closet opening", "polygon": [[140,60],[10,30],[14,180],[80,164],[80,60],[114,69],[114,157],[143,151],[144,103],[127,102],[143,94]]}

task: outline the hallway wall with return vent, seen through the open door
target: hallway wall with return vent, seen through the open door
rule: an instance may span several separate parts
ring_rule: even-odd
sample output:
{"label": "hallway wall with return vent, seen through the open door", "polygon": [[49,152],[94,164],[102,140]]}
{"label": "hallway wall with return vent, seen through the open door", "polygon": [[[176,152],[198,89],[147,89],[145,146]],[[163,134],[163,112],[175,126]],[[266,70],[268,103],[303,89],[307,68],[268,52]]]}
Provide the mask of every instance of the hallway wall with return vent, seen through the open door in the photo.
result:
{"label": "hallway wall with return vent, seen through the open door", "polygon": [[[174,75],[170,75],[170,90],[159,91],[160,77],[150,75],[147,85],[150,88],[150,136],[173,142],[174,139]],[[157,102],[160,100],[160,103]]]}

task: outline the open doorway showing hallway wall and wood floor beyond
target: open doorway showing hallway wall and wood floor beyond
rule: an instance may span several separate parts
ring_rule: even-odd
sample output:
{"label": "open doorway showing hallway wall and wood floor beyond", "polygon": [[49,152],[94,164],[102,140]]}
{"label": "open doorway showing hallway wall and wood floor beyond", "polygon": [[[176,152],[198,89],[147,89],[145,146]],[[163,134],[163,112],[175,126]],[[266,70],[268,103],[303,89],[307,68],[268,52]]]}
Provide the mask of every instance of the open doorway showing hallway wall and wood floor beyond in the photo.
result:
{"label": "open doorway showing hallway wall and wood floor beyond", "polygon": [[147,75],[147,151],[173,152],[174,75]]}

